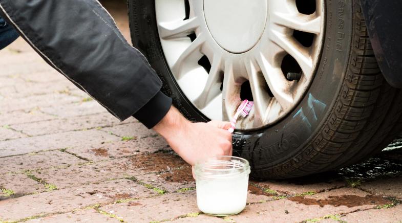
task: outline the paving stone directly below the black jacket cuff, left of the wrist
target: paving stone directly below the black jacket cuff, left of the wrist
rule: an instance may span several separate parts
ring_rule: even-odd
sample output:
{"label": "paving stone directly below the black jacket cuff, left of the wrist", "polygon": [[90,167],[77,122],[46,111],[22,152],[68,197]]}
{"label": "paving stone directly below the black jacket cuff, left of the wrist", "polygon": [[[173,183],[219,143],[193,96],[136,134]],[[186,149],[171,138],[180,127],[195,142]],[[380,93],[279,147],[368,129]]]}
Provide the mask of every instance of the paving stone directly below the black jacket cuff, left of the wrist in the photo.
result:
{"label": "paving stone directly below the black jacket cuff, left of the wrist", "polygon": [[137,139],[158,135],[154,130],[147,129],[139,122],[102,128],[101,130],[112,132],[114,135],[119,137],[135,137]]}

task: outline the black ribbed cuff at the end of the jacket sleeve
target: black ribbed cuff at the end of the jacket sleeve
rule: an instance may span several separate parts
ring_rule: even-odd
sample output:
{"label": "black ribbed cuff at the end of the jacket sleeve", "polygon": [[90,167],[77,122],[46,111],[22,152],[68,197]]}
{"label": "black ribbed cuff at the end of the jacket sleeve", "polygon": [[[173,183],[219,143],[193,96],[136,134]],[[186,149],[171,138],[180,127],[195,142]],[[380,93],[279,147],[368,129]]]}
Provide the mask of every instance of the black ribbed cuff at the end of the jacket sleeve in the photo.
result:
{"label": "black ribbed cuff at the end of the jacket sleeve", "polygon": [[159,91],[148,103],[142,106],[133,117],[151,129],[162,120],[172,106],[172,98]]}

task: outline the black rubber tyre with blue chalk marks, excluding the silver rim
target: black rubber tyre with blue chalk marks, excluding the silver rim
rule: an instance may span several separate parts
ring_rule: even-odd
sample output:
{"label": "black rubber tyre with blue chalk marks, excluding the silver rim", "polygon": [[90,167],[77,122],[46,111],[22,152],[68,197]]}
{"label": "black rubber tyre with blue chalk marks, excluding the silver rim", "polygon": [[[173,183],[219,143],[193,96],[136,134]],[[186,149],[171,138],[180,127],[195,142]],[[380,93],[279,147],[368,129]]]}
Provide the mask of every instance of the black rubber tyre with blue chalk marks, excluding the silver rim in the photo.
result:
{"label": "black rubber tyre with blue chalk marks, excluding the silver rim", "polygon": [[[208,121],[167,65],[155,1],[128,5],[133,45],[163,81],[162,91],[187,119]],[[359,1],[327,0],[325,11],[322,53],[303,99],[280,121],[233,135],[234,155],[250,162],[253,177],[287,179],[345,167],[381,151],[402,130],[402,93],[378,68]]]}

